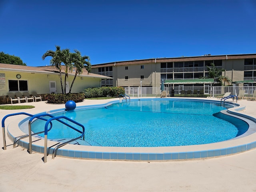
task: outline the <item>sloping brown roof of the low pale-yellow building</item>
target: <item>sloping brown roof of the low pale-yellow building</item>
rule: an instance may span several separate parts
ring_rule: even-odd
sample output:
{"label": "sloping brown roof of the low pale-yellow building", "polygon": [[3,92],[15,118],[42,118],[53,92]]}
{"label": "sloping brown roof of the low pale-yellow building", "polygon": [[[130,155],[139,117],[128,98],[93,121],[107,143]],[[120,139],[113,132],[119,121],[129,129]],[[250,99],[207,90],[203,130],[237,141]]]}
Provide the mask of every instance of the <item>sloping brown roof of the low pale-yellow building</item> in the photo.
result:
{"label": "sloping brown roof of the low pale-yellow building", "polygon": [[[13,65],[13,64],[2,64],[0,63],[0,70],[1,71],[18,71],[18,72],[24,72],[24,73],[44,73],[44,74],[59,74],[60,72],[56,67],[54,66],[41,66],[41,67],[31,67],[31,66],[23,66],[23,65]],[[65,66],[62,67],[62,73],[65,73]],[[69,75],[75,75],[76,68],[73,68],[72,71],[69,71]],[[112,79],[111,77],[94,74],[94,73],[88,73],[86,69],[83,69],[83,73],[80,74],[81,77],[92,77],[92,78],[102,78],[102,79]]]}

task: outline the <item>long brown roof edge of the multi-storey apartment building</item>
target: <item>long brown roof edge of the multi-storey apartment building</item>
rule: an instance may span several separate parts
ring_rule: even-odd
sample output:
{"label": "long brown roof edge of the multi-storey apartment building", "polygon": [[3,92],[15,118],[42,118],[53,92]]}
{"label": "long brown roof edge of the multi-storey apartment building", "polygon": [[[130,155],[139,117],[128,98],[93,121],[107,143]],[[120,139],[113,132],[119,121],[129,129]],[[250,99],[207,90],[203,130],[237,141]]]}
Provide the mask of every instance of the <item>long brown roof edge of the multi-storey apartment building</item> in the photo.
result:
{"label": "long brown roof edge of the multi-storey apartment building", "polygon": [[203,56],[185,56],[185,57],[172,57],[172,58],[149,58],[141,60],[127,60],[116,61],[102,64],[94,64],[92,68],[107,67],[107,66],[121,66],[132,64],[148,64],[148,63],[160,63],[160,62],[186,62],[186,61],[204,61],[204,60],[227,60],[227,59],[245,59],[256,58],[256,53],[253,54],[232,54],[232,55],[203,55]]}

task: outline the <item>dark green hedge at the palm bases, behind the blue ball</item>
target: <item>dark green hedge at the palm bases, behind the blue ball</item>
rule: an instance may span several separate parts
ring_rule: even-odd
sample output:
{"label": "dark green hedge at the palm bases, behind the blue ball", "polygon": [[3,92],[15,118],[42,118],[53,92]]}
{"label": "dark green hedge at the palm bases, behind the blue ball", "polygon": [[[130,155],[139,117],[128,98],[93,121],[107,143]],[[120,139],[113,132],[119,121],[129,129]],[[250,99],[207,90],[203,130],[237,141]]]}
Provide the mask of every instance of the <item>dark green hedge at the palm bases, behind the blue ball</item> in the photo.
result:
{"label": "dark green hedge at the palm bases, behind the blue ball", "polygon": [[73,100],[74,102],[82,102],[84,100],[84,93],[68,93],[68,94],[45,94],[45,100],[48,103],[66,103],[69,100]]}

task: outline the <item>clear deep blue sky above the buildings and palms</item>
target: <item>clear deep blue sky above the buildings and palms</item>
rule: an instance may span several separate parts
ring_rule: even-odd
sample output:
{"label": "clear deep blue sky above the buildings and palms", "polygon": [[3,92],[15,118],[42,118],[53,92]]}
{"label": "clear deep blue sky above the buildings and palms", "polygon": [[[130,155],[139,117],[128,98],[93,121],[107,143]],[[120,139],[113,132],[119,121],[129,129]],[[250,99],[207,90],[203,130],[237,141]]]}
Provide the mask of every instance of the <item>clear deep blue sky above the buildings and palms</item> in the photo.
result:
{"label": "clear deep blue sky above the buildings and palms", "polygon": [[47,50],[92,64],[256,53],[256,0],[0,0],[0,52],[27,66]]}

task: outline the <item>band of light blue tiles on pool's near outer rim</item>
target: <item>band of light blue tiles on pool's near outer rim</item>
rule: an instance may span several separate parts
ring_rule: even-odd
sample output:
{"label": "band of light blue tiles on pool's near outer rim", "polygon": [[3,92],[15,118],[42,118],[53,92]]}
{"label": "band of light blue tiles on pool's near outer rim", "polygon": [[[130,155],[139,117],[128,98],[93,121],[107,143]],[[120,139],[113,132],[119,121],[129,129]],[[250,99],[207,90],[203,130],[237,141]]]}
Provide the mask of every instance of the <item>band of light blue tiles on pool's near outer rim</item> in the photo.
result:
{"label": "band of light blue tiles on pool's near outer rim", "polygon": [[[14,141],[15,137],[7,132],[8,137]],[[20,140],[18,142],[22,148],[28,148],[28,142]],[[243,144],[234,147],[220,148],[214,150],[190,151],[190,152],[94,152],[94,151],[81,151],[81,150],[67,150],[59,148],[56,156],[80,158],[80,159],[94,159],[94,160],[134,160],[134,161],[152,161],[152,160],[192,160],[202,158],[212,158],[219,156],[227,156],[231,154],[241,153],[247,150],[256,148],[256,141],[248,144]],[[54,147],[48,148],[49,155],[52,154]],[[44,153],[44,147],[32,144],[34,152]]]}

